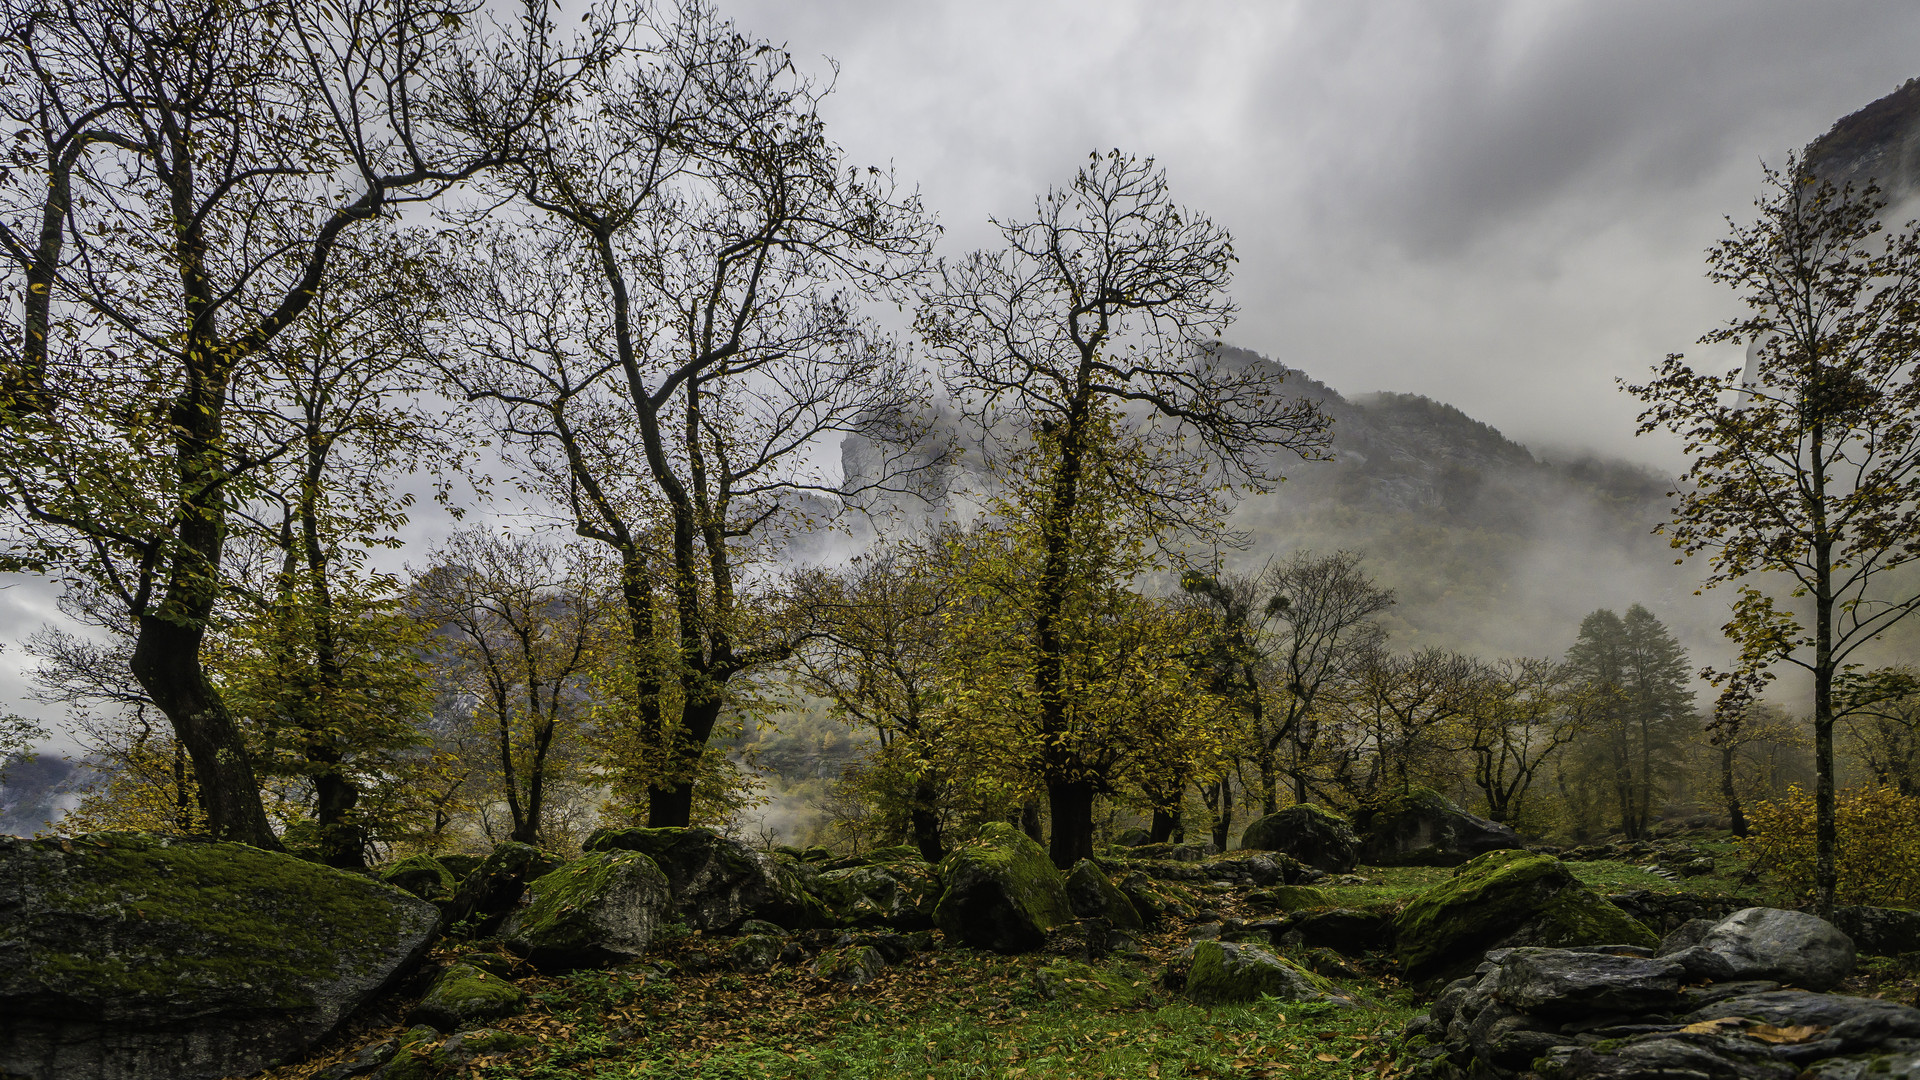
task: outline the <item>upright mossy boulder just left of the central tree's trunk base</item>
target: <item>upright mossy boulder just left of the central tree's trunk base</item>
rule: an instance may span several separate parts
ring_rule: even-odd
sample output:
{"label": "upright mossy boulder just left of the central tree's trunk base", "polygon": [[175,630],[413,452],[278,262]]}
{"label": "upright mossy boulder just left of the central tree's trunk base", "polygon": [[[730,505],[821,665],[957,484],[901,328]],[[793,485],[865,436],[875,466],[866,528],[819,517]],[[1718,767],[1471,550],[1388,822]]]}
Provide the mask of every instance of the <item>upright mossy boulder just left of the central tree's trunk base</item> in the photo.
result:
{"label": "upright mossy boulder just left of the central tree's trunk base", "polygon": [[954,942],[996,953],[1046,944],[1046,930],[1073,922],[1066,878],[1046,851],[1006,822],[989,822],[941,861],[933,920]]}

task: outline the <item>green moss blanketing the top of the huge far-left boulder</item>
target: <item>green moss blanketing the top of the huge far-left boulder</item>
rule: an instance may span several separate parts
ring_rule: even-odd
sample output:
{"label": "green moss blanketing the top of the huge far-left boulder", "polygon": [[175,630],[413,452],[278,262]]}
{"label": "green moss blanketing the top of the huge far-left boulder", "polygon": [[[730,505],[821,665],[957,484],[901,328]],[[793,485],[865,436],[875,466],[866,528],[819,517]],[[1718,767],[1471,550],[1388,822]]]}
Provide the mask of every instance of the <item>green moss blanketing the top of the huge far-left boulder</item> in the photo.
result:
{"label": "green moss blanketing the top of the huge far-left boulder", "polygon": [[392,947],[407,930],[397,890],[244,844],[148,834],[13,844],[29,849],[12,859],[13,886],[35,899],[0,926],[0,944],[77,1001],[246,988],[303,1007],[311,984],[372,974],[342,970],[353,942]]}

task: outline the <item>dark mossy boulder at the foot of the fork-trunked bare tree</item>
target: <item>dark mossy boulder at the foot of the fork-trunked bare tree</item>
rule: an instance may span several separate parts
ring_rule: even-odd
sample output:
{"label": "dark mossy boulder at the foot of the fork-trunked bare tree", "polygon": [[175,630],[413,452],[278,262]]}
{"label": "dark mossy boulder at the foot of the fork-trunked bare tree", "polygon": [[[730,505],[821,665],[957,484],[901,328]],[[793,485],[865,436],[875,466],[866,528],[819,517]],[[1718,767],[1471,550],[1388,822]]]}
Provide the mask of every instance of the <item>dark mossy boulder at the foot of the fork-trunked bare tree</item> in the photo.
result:
{"label": "dark mossy boulder at the foot of the fork-trunked bare tree", "polygon": [[747,919],[804,930],[831,920],[791,869],[710,828],[599,828],[586,849],[653,859],[672,890],[668,919],[691,930],[724,932]]}

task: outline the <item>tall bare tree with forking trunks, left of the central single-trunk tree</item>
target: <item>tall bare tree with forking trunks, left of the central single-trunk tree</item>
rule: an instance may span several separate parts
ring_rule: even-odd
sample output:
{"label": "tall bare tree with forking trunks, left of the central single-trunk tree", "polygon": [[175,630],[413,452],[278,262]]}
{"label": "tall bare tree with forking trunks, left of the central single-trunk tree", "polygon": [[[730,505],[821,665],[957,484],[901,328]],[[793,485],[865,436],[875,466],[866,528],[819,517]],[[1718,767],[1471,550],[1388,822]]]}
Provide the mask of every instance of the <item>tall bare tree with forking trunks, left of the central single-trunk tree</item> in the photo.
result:
{"label": "tall bare tree with forking trunks, left of the central single-trunk tree", "polygon": [[[918,200],[841,161],[824,90],[705,4],[641,19],[538,133],[522,208],[459,267],[453,384],[620,563],[622,792],[687,824],[730,682],[791,655],[755,563],[849,494],[814,454],[920,398],[856,292],[924,258]],[[879,480],[876,480],[879,482]]]}

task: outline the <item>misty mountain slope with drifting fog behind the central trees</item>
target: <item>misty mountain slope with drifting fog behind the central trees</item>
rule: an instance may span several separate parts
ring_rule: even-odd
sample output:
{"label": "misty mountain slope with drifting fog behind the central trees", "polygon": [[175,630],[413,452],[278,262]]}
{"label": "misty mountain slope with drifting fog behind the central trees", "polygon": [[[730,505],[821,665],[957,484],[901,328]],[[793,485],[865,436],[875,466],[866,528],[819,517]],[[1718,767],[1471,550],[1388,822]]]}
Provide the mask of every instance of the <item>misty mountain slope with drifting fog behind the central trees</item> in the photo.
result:
{"label": "misty mountain slope with drifting fog behind the central trees", "polygon": [[[1693,596],[1697,567],[1674,567],[1665,538],[1653,534],[1665,517],[1667,479],[1597,457],[1542,461],[1444,402],[1346,398],[1252,350],[1223,346],[1219,363],[1261,367],[1279,394],[1317,402],[1332,417],[1332,446],[1329,461],[1279,459],[1286,482],[1248,496],[1233,513],[1246,546],[1194,553],[1200,561],[1258,573],[1298,548],[1359,552],[1398,594],[1386,623],[1402,650],[1559,655],[1586,613],[1645,603],[1699,663],[1722,659],[1724,601]],[[941,413],[935,427],[966,446],[958,419]],[[899,454],[849,438],[841,459],[851,482],[860,482],[872,463]],[[906,500],[893,505],[906,525],[966,521],[975,503],[970,492],[987,484],[972,455],[924,480],[933,488],[931,509]]]}

